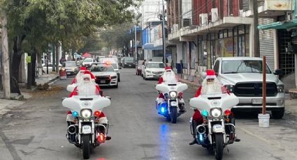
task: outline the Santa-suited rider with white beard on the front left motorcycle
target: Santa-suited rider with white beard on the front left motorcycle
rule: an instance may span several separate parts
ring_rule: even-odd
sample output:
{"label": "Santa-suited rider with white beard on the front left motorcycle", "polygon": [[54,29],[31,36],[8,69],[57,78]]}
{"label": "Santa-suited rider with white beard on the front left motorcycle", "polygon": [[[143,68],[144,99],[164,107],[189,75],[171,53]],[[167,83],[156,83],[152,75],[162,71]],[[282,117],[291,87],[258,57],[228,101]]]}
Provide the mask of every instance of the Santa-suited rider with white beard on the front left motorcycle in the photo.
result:
{"label": "Santa-suited rider with white beard on the front left motorcycle", "polygon": [[[69,97],[72,97],[73,95],[99,95],[102,93],[100,92],[99,86],[92,81],[90,74],[83,74],[82,75],[82,81],[78,83],[78,86],[76,86],[73,91],[70,93]],[[106,115],[101,111],[101,114],[97,117],[99,120],[99,124],[108,126],[108,119],[106,118]],[[73,122],[75,118],[73,118],[73,115],[71,111],[68,111],[68,115],[66,118],[66,121],[69,124],[70,122]],[[106,140],[110,140],[110,136],[106,136]]]}

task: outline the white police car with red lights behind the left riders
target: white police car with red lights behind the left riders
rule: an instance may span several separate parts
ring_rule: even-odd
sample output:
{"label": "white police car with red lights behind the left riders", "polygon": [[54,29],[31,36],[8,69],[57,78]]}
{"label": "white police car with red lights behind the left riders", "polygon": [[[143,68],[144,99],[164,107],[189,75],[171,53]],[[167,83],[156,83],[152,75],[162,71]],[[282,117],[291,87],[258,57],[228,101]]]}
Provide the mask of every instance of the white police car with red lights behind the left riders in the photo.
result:
{"label": "white police car with red lights behind the left riders", "polygon": [[95,82],[99,86],[115,86],[118,87],[117,72],[113,69],[112,65],[99,63],[91,67],[91,72],[96,77]]}

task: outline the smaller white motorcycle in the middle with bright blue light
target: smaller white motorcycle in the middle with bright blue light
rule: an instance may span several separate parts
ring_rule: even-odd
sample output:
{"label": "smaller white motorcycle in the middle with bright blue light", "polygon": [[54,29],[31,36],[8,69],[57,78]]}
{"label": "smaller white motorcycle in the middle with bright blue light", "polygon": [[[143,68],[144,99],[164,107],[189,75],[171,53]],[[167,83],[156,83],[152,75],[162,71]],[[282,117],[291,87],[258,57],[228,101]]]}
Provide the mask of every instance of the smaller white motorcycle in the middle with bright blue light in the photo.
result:
{"label": "smaller white motorcycle in the middle with bright blue light", "polygon": [[159,114],[164,115],[168,121],[176,123],[177,118],[185,112],[184,100],[182,99],[182,91],[187,90],[185,83],[160,83],[156,89],[164,95],[164,102],[156,99],[156,109]]}

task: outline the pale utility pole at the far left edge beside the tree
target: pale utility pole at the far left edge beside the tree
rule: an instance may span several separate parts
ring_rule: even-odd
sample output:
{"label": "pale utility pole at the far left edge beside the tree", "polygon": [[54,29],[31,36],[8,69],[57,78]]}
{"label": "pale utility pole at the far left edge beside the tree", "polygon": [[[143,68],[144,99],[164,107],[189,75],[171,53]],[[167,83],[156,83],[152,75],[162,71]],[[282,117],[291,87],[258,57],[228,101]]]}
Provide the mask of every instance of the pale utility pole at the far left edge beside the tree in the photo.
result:
{"label": "pale utility pole at the far left edge beside the tree", "polygon": [[9,56],[8,56],[8,35],[7,35],[7,15],[4,10],[1,10],[2,15],[2,85],[3,85],[3,98],[10,99],[10,73],[9,73]]}

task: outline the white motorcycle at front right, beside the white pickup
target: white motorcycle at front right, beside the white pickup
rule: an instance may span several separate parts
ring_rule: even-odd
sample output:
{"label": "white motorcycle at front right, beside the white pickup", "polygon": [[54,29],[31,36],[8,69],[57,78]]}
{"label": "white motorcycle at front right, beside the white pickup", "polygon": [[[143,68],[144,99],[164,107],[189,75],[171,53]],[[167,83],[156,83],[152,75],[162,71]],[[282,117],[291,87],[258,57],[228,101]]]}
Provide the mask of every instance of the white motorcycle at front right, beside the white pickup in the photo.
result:
{"label": "white motorcycle at front right, beside the white pickup", "polygon": [[[190,99],[190,106],[198,109],[203,116],[203,124],[192,129],[199,145],[213,150],[216,159],[222,159],[226,145],[236,139],[235,121],[231,122],[231,109],[238,104],[238,98],[231,94],[200,95]],[[195,131],[195,134],[194,134]]]}

